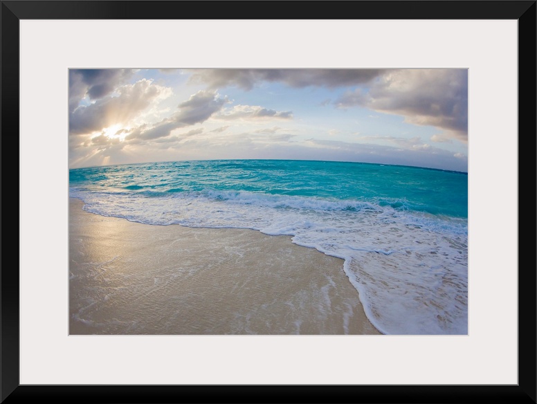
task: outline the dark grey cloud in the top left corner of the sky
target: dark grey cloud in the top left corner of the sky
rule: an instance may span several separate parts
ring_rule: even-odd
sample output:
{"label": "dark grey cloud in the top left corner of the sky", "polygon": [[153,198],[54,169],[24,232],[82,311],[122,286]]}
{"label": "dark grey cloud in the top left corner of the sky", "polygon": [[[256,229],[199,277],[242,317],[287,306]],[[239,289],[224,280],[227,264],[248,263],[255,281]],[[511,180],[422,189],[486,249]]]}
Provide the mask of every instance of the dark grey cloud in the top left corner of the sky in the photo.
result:
{"label": "dark grey cloud in the top left corner of the sky", "polygon": [[69,70],[69,111],[78,107],[80,100],[89,97],[98,100],[109,95],[132,76],[131,69],[84,68]]}

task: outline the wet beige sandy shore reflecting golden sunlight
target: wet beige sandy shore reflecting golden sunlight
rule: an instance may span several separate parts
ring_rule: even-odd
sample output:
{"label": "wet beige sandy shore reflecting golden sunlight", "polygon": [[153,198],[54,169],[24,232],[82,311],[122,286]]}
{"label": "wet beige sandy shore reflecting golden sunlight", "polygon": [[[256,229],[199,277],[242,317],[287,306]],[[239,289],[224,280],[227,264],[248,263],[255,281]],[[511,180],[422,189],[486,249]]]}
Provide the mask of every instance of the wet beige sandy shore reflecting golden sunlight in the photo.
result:
{"label": "wet beige sandy shore reflecting golden sunlight", "polygon": [[343,260],[255,230],[151,226],[69,204],[70,334],[379,334]]}

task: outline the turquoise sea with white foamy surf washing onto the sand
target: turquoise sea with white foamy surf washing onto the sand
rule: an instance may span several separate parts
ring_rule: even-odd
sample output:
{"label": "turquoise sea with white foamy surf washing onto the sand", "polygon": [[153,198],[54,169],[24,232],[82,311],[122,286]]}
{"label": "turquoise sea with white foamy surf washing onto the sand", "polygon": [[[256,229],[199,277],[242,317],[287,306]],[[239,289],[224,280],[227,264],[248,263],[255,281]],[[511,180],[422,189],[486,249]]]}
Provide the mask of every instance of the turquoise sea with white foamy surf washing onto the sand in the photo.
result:
{"label": "turquoise sea with white foamy surf washing onto the sand", "polygon": [[69,187],[85,210],[104,216],[291,235],[295,244],[345,259],[379,331],[467,333],[465,173],[210,160],[71,169]]}

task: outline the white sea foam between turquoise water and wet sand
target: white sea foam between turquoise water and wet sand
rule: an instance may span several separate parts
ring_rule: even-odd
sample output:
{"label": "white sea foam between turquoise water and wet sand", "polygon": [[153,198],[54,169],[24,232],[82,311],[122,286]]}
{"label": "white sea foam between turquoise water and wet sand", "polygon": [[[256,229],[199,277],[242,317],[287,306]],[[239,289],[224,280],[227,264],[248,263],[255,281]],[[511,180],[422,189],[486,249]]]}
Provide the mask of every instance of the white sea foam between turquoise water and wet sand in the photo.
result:
{"label": "white sea foam between turquoise water and wet sand", "polygon": [[140,223],[291,235],[295,244],[345,259],[345,273],[379,331],[467,333],[466,219],[359,201],[248,192],[147,197],[73,189],[71,196],[82,199],[89,212]]}

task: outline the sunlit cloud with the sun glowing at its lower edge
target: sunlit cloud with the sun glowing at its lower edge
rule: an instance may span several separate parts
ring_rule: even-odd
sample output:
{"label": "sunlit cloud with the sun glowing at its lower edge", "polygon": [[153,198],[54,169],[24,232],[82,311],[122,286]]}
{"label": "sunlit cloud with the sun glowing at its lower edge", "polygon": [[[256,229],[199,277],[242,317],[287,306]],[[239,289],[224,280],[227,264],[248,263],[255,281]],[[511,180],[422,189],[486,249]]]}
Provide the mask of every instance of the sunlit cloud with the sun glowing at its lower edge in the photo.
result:
{"label": "sunlit cloud with the sun glowing at its lower edge", "polygon": [[111,125],[125,124],[149,107],[163,89],[145,79],[120,86],[115,91],[118,96],[100,98],[93,104],[80,105],[71,112],[69,133],[87,134]]}

